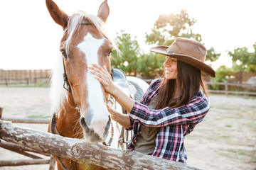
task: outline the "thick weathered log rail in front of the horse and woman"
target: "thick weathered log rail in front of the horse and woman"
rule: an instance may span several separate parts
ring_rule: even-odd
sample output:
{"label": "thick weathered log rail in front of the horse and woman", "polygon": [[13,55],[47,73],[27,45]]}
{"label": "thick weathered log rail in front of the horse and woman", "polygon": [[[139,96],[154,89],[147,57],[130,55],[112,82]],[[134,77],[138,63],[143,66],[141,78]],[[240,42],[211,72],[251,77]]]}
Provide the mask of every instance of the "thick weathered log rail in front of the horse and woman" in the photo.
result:
{"label": "thick weathered log rail in front of the horse and woman", "polygon": [[[0,120],[0,139],[4,140],[4,143],[12,142],[17,146],[21,145],[42,154],[64,157],[80,164],[96,164],[106,169],[197,169],[188,164],[172,162],[139,152],[110,149],[104,145],[88,144],[84,140],[29,130],[5,120]],[[41,164],[50,162],[50,160],[41,159],[38,161],[41,161]],[[1,163],[4,166],[2,161]]]}

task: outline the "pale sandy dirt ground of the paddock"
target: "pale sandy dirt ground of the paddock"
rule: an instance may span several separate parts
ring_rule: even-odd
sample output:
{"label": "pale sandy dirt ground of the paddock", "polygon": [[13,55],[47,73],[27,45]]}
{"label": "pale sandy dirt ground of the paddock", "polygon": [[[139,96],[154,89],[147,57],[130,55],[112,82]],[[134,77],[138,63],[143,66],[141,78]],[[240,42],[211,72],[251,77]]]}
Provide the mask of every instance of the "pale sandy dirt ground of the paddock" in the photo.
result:
{"label": "pale sandy dirt ground of the paddock", "polygon": [[[49,118],[46,88],[0,87],[3,116]],[[210,94],[211,109],[202,123],[186,136],[187,164],[199,169],[256,170],[256,98]],[[18,124],[47,131],[47,125]],[[0,148],[0,160],[30,159]],[[48,165],[2,166],[5,169],[48,169]]]}

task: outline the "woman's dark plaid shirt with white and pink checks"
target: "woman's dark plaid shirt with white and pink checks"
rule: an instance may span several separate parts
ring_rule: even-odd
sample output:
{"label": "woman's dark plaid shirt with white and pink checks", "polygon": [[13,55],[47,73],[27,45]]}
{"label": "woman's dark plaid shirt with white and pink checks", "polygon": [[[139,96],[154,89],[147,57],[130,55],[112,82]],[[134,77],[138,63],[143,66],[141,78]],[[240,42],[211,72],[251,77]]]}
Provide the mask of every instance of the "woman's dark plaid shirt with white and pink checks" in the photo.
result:
{"label": "woman's dark plaid shirt with white and pink checks", "polygon": [[156,137],[156,147],[153,156],[186,163],[186,149],[184,147],[185,136],[192,132],[193,128],[200,123],[210,109],[210,103],[202,91],[191,98],[186,105],[177,108],[163,108],[152,110],[147,107],[150,101],[159,93],[161,79],[151,82],[149,89],[142,98],[141,103],[135,101],[129,117],[131,128],[134,130],[132,142],[127,149],[134,149],[140,126],[160,127]]}

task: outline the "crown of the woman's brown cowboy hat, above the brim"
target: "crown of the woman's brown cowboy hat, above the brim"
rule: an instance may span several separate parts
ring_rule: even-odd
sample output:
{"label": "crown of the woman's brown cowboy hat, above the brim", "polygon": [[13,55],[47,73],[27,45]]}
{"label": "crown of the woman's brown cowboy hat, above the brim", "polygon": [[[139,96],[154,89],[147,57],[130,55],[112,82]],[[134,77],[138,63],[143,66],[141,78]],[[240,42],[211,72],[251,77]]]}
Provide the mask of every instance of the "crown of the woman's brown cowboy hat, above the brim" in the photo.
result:
{"label": "crown of the woman's brown cowboy hat, above the brim", "polygon": [[206,47],[201,42],[188,38],[176,38],[167,51],[175,52],[179,55],[188,55],[201,62],[205,62],[207,53]]}

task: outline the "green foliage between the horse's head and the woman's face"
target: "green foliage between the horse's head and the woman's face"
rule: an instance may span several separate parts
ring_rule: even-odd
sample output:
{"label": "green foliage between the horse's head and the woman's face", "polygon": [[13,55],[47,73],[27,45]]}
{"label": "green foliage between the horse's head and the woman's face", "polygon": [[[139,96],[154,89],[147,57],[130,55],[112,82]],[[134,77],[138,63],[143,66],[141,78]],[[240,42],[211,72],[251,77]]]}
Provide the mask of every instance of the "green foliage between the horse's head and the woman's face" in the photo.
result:
{"label": "green foliage between the horse's head and the woman's face", "polygon": [[121,31],[118,35],[117,45],[122,52],[122,57],[118,57],[117,51],[112,53],[112,67],[122,69],[128,75],[141,74],[142,76],[156,76],[161,74],[165,57],[162,55],[141,54],[137,40],[132,40],[129,33]]}

